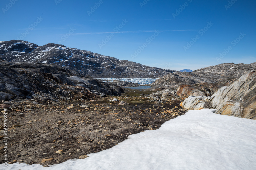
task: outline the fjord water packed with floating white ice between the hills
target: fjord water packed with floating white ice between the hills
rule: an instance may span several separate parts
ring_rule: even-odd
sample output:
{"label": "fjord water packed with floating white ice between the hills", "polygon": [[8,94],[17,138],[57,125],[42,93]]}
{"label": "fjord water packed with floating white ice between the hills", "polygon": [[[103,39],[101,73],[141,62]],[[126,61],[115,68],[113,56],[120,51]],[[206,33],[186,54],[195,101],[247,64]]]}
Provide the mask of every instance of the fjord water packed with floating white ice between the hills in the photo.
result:
{"label": "fjord water packed with floating white ice between the hills", "polygon": [[107,80],[109,82],[113,82],[114,80],[120,80],[125,82],[132,82],[132,83],[138,83],[138,84],[151,84],[155,82],[157,79],[152,78],[100,78],[100,80]]}

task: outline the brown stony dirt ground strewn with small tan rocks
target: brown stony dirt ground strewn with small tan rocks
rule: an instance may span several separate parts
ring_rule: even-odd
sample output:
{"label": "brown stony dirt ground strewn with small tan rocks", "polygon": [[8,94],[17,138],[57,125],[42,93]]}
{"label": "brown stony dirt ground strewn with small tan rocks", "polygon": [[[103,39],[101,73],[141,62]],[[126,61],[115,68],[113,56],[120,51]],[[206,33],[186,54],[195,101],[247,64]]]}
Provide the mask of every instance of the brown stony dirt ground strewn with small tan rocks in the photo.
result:
{"label": "brown stony dirt ground strewn with small tan rocks", "polygon": [[[23,160],[27,164],[48,165],[78,159],[81,155],[109,149],[131,134],[158,129],[164,122],[186,112],[179,106],[182,100],[172,100],[170,96],[166,97],[166,103],[154,104],[148,101],[148,96],[139,94],[155,91],[124,89],[122,96],[108,96],[95,101],[39,106],[17,102],[23,108],[8,109],[8,161]],[[118,106],[119,102],[109,101],[113,98],[130,104]],[[71,104],[74,108],[67,108]],[[90,108],[81,108],[81,105],[89,105]],[[3,111],[0,117],[0,126],[3,126]],[[101,132],[95,132],[96,129]],[[56,153],[58,150],[63,150],[64,154]],[[3,152],[2,142],[0,155]],[[24,153],[27,155],[22,155]],[[54,160],[41,163],[43,158]]]}

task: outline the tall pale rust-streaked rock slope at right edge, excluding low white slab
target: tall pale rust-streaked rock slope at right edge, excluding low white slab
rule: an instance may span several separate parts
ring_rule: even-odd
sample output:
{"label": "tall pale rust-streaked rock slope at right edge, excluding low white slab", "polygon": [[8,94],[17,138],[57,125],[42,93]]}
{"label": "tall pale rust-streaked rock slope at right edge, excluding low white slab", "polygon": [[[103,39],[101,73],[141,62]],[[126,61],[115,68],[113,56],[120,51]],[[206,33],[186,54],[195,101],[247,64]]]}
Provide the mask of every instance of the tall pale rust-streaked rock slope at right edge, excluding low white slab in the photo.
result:
{"label": "tall pale rust-streaked rock slope at right edge, excluding low white slab", "polygon": [[243,74],[229,87],[222,87],[212,96],[217,114],[256,119],[256,70]]}

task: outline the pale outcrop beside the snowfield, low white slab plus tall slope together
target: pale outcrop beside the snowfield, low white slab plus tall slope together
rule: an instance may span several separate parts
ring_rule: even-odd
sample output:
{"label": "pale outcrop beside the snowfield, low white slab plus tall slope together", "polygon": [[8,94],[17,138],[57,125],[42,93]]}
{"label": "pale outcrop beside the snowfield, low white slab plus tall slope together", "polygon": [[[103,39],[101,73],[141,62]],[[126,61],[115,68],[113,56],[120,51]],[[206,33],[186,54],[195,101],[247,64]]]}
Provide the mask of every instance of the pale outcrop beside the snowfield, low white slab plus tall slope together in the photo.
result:
{"label": "pale outcrop beside the snowfield, low white slab plus tall slope together", "polygon": [[180,106],[188,110],[216,109],[216,114],[256,120],[256,70],[243,74],[212,96],[189,96]]}

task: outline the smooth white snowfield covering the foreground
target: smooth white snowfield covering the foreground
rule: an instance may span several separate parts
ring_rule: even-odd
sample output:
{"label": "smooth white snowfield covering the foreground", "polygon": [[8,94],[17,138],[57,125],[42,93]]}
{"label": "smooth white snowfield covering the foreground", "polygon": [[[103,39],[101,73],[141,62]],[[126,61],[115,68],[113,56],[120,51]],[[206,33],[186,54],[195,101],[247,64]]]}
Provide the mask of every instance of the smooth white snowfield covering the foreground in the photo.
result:
{"label": "smooth white snowfield covering the foreground", "polygon": [[1,164],[0,169],[256,169],[256,120],[213,111],[188,111],[86,159],[51,167]]}

